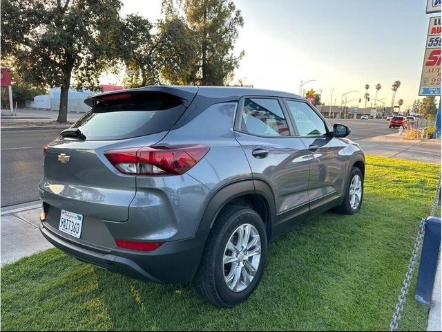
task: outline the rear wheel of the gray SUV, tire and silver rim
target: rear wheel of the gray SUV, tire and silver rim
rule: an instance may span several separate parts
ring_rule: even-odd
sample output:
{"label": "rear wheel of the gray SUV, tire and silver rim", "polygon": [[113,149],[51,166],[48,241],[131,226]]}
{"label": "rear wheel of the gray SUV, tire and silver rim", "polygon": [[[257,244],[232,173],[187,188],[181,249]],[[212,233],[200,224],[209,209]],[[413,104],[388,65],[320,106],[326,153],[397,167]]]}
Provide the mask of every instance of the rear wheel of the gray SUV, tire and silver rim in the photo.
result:
{"label": "rear wheel of the gray SUV, tire and silver rim", "polygon": [[[249,228],[250,241],[247,239],[246,248],[244,241],[240,243],[241,228],[242,234],[247,234]],[[256,244],[249,247],[253,242]],[[231,250],[231,244],[236,249]],[[249,257],[247,253],[253,250],[260,254],[255,252]],[[228,205],[218,215],[209,234],[193,285],[215,306],[232,308],[246,301],[256,290],[264,273],[266,257],[267,234],[260,215],[247,207]],[[229,263],[229,258],[236,261]]]}

